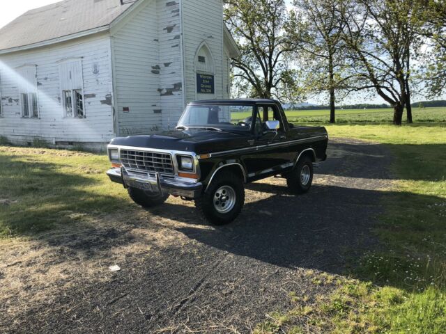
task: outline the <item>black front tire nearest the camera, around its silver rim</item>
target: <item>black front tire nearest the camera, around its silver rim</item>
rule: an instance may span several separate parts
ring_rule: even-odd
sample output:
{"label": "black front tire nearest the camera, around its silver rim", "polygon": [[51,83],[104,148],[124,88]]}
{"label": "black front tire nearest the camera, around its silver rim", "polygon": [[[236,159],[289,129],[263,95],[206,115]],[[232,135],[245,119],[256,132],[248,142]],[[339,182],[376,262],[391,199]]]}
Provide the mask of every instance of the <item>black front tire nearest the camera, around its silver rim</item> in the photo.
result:
{"label": "black front tire nearest the camera, around its silver rim", "polygon": [[[222,187],[230,187],[235,194],[235,203],[231,211],[226,213],[218,212],[215,208],[215,196],[217,191]],[[234,173],[221,172],[215,175],[210,183],[209,188],[195,200],[195,207],[197,207],[201,216],[213,225],[225,225],[231,223],[242,211],[245,204],[245,187],[243,180]],[[223,208],[224,209],[224,208]]]}

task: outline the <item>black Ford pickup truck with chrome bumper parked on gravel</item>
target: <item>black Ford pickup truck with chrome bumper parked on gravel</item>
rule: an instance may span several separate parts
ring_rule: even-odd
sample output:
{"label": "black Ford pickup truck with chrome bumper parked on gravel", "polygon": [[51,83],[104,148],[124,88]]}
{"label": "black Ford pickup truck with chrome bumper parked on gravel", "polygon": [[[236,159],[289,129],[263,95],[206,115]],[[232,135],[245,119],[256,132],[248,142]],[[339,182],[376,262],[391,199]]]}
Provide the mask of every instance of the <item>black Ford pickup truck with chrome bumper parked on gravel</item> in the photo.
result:
{"label": "black Ford pickup truck with chrome bumper parked on gravel", "polygon": [[192,102],[175,130],[114,138],[107,175],[138,205],[180,196],[222,225],[240,214],[247,182],[279,175],[293,193],[307,192],[327,143],[324,127],[293,126],[275,100]]}

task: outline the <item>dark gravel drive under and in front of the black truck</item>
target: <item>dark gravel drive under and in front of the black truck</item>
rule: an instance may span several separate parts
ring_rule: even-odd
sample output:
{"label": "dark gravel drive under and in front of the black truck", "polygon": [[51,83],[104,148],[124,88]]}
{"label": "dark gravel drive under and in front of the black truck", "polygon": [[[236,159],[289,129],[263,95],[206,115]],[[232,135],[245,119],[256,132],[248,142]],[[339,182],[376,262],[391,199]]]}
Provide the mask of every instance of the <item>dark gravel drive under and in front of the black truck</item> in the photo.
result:
{"label": "dark gravel drive under and in front of the black truck", "polygon": [[[135,207],[119,227],[109,221],[42,237],[56,258],[45,267],[66,267],[63,285],[31,285],[30,302],[11,294],[0,306],[0,332],[249,333],[268,312],[291,306],[289,292],[330,292],[314,278],[343,273],[348,257],[374,245],[369,230],[392,181],[382,145],[331,141],[328,156],[305,196],[289,195],[278,178],[247,185],[243,214],[222,228],[199,220],[192,204],[169,200],[153,212]],[[75,260],[59,259],[67,253]],[[23,263],[7,261],[25,274]],[[121,271],[109,272],[115,263]],[[91,267],[97,271],[82,274]],[[37,293],[45,298],[31,302]]]}

